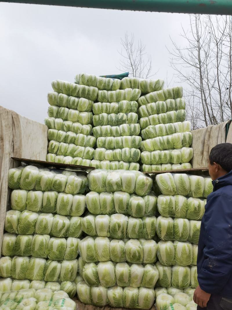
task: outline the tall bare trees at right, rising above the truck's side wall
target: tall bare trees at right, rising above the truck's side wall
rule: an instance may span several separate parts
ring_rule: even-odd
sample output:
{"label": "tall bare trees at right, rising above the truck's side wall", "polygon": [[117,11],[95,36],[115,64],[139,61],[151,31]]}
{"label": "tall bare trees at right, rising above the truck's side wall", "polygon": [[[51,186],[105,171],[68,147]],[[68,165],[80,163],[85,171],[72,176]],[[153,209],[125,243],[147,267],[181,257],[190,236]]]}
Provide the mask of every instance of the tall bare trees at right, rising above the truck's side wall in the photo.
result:
{"label": "tall bare trees at right, rising above the truck's side wall", "polygon": [[232,116],[231,17],[189,17],[190,29],[182,27],[181,34],[185,46],[171,39],[170,64],[176,82],[187,85],[187,115],[193,126],[216,125]]}

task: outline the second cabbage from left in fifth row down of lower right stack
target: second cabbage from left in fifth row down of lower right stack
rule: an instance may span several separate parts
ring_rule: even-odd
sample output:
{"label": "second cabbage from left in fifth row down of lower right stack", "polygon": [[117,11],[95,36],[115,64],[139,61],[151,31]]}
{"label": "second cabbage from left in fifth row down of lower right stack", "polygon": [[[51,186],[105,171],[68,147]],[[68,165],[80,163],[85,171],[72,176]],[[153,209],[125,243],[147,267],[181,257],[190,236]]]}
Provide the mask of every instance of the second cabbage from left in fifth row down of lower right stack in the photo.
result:
{"label": "second cabbage from left in fifth row down of lower right stack", "polygon": [[187,288],[191,281],[191,271],[188,266],[175,265],[172,268],[172,286],[176,288]]}

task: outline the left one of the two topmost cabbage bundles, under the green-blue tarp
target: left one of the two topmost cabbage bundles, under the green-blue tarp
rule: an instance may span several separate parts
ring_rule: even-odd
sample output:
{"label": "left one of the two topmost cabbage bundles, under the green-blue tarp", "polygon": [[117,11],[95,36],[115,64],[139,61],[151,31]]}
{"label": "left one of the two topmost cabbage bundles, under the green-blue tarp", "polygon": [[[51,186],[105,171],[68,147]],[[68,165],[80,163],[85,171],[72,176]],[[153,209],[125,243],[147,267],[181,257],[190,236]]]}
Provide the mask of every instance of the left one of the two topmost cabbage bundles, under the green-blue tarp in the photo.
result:
{"label": "left one of the two topmost cabbage bundles, under the green-blue tarp", "polygon": [[120,88],[121,80],[99,77],[94,74],[79,73],[75,76],[75,83],[86,86],[94,86],[99,90],[115,91]]}

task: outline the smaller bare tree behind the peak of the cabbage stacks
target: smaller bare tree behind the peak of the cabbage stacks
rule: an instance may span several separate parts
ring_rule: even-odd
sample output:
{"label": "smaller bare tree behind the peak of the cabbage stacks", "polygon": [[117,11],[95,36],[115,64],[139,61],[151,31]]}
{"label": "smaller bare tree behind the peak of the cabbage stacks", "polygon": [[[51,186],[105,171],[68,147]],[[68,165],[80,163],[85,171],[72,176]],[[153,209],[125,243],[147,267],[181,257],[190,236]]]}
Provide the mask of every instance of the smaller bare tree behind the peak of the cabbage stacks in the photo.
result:
{"label": "smaller bare tree behind the peak of the cabbage stacks", "polygon": [[151,55],[146,52],[146,46],[141,40],[135,42],[134,34],[125,33],[121,38],[121,55],[120,65],[117,68],[120,71],[128,71],[130,76],[134,78],[149,78],[152,71]]}

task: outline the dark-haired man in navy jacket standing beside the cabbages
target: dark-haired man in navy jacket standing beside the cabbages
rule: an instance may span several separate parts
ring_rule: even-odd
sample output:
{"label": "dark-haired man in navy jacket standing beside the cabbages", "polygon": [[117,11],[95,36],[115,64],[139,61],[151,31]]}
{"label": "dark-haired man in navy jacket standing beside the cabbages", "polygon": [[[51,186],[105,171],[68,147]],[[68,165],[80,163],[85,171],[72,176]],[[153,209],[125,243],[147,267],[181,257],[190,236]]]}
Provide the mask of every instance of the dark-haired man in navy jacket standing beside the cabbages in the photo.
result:
{"label": "dark-haired man in navy jacket standing beside the cabbages", "polygon": [[216,145],[208,162],[213,192],[201,221],[193,300],[198,310],[232,310],[232,144]]}

